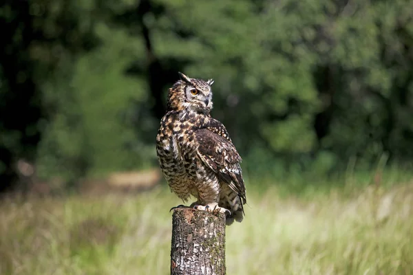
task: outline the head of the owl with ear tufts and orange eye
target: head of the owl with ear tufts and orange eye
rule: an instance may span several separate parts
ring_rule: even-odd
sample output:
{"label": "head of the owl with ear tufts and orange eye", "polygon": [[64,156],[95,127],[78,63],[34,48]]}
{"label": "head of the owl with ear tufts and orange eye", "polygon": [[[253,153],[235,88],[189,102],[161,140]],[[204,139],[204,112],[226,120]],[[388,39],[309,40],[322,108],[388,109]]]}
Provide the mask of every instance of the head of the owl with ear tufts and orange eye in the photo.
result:
{"label": "head of the owl with ear tufts and orange eye", "polygon": [[180,80],[169,89],[169,109],[187,109],[209,113],[213,106],[211,90],[213,80],[204,81],[197,78],[189,78],[181,72],[178,74],[180,75]]}

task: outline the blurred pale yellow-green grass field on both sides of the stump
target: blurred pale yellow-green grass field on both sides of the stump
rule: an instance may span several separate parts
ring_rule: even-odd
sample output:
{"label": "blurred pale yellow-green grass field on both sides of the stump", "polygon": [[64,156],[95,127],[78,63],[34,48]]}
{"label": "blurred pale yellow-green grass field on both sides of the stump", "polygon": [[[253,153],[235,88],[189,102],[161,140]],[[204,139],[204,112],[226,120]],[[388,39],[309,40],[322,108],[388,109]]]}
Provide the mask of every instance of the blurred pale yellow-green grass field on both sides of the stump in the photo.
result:
{"label": "blurred pale yellow-green grass field on both sides of the stump", "polygon": [[[227,274],[413,274],[413,180],[349,184],[247,186],[246,217],[226,228]],[[163,187],[3,201],[0,274],[169,274],[179,203]]]}

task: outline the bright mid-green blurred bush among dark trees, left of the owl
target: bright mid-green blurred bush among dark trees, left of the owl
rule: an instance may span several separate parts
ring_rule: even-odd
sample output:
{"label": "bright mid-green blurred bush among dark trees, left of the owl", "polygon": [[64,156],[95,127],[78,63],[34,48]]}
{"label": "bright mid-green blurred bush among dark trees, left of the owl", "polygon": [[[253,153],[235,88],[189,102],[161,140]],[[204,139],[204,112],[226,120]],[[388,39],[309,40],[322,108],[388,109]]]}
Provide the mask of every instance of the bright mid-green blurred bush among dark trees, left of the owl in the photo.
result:
{"label": "bright mid-green blurred bush among dark trees, left of the owl", "polygon": [[96,35],[103,45],[78,58],[70,79],[45,89],[47,95],[55,97],[51,100],[59,112],[40,147],[43,175],[64,175],[65,171],[71,174],[64,175],[69,179],[101,175],[110,170],[143,168],[145,155],[155,157],[153,148],[134,141],[133,125],[125,121],[130,102],[147,98],[145,82],[124,74],[134,51],[141,50],[140,41],[103,23],[96,26]]}

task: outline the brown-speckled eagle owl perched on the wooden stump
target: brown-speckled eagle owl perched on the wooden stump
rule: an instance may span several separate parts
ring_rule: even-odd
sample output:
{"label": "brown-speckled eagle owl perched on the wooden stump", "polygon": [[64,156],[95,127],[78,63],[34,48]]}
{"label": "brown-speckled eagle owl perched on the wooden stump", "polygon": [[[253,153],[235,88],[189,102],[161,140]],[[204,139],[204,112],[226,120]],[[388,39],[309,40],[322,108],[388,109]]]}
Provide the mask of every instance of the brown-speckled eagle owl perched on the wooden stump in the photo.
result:
{"label": "brown-speckled eagle owl perched on the wooden stump", "polygon": [[226,225],[240,222],[246,203],[242,159],[225,126],[210,115],[213,80],[179,74],[156,137],[162,173],[184,202],[197,199],[189,207],[226,213]]}

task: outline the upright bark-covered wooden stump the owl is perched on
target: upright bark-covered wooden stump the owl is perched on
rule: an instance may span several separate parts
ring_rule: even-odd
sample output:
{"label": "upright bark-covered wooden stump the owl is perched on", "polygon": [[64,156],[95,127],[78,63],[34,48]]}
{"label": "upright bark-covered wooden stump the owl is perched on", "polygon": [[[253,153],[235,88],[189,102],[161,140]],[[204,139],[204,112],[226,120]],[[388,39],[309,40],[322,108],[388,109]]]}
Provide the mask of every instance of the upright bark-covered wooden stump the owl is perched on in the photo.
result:
{"label": "upright bark-covered wooden stump the owl is perched on", "polygon": [[171,275],[225,275],[225,214],[176,208]]}

